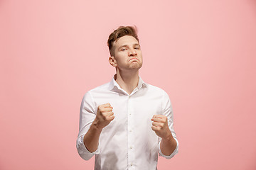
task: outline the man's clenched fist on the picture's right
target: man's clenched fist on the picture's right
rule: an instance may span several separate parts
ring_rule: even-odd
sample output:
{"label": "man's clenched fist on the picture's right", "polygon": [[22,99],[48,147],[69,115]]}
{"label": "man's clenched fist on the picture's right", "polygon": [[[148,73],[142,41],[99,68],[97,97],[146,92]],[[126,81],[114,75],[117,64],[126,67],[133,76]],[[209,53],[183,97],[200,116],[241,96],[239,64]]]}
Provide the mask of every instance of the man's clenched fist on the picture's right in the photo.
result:
{"label": "man's clenched fist on the picture's right", "polygon": [[156,135],[166,140],[172,137],[168,126],[168,118],[165,115],[153,115],[151,120],[153,121],[151,128],[156,132]]}

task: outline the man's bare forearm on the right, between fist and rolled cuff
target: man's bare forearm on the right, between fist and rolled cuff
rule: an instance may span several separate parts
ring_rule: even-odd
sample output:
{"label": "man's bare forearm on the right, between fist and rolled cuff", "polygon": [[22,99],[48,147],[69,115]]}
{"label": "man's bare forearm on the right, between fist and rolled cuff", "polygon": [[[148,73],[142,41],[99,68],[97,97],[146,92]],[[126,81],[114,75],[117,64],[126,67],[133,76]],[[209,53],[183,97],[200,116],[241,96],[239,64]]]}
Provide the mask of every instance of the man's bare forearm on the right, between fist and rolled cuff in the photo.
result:
{"label": "man's bare forearm on the right, between fist and rolled cuff", "polygon": [[160,149],[161,152],[166,156],[171,155],[176,149],[176,146],[177,142],[174,140],[172,135],[169,135],[169,137],[166,137],[166,139],[161,139]]}

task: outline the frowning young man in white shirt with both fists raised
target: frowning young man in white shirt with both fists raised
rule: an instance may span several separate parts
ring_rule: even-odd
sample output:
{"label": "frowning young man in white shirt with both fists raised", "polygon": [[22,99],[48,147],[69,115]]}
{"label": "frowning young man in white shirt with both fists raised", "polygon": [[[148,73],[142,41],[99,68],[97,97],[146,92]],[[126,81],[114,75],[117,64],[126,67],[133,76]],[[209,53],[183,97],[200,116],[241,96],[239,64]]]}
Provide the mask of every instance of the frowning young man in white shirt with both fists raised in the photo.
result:
{"label": "frowning young man in white shirt with both fists raised", "polygon": [[87,91],[80,108],[78,153],[95,169],[157,169],[158,153],[178,152],[168,94],[139,77],[142,50],[133,27],[119,27],[108,40],[117,74]]}

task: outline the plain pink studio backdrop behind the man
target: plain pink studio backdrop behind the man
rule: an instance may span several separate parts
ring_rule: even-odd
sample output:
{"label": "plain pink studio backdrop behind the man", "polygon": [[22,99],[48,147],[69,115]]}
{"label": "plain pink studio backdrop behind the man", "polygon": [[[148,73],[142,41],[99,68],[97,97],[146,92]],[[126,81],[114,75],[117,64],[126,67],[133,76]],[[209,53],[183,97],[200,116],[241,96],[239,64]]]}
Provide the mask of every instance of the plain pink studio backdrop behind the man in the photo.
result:
{"label": "plain pink studio backdrop behind the man", "polygon": [[86,91],[112,79],[108,35],[136,25],[144,81],[180,143],[159,169],[256,169],[256,2],[0,1],[0,169],[93,169],[75,148]]}

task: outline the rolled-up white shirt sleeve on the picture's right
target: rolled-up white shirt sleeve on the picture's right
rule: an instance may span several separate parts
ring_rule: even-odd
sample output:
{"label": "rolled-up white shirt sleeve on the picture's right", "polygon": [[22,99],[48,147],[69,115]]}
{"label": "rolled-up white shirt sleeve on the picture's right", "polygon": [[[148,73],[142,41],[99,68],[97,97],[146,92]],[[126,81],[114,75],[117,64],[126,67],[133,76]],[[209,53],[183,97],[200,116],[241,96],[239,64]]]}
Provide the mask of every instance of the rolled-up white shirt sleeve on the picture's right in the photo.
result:
{"label": "rolled-up white shirt sleeve on the picture's right", "polygon": [[164,155],[160,149],[161,137],[159,137],[159,155],[161,157],[165,157],[166,159],[171,159],[172,157],[174,157],[175,154],[178,153],[178,140],[176,137],[176,133],[174,132],[174,113],[171,107],[171,101],[168,94],[166,94],[165,91],[162,100],[162,114],[166,115],[166,117],[168,118],[169,129],[171,130],[171,134],[173,135],[174,140],[176,140],[177,145],[176,148],[174,149],[174,152],[172,152],[170,155]]}

